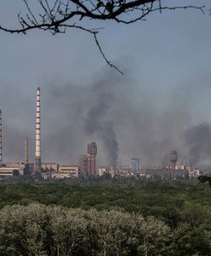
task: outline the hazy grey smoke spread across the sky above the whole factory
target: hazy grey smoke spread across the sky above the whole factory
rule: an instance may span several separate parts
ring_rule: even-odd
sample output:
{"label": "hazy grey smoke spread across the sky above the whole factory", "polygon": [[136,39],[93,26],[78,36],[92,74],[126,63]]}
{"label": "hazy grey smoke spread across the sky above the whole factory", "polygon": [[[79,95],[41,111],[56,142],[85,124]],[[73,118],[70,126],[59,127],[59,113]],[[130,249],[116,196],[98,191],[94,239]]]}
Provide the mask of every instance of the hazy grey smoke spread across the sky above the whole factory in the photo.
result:
{"label": "hazy grey smoke spread across the sky above the whole factory", "polygon": [[[129,161],[131,155],[140,156],[142,163],[164,165],[169,163],[172,149],[183,163],[210,162],[211,125],[209,120],[205,123],[205,119],[197,118],[199,109],[194,109],[192,100],[206,95],[206,104],[209,87],[199,90],[195,81],[159,92],[132,74],[99,73],[83,84],[60,78],[43,81],[42,160],[76,164],[84,145],[95,141],[98,161],[111,166]],[[196,90],[190,92],[190,86]],[[24,159],[27,136],[29,158],[34,161],[34,102],[18,90],[20,100],[15,102],[6,87],[3,96],[11,104],[2,98],[3,155],[9,161]]]}

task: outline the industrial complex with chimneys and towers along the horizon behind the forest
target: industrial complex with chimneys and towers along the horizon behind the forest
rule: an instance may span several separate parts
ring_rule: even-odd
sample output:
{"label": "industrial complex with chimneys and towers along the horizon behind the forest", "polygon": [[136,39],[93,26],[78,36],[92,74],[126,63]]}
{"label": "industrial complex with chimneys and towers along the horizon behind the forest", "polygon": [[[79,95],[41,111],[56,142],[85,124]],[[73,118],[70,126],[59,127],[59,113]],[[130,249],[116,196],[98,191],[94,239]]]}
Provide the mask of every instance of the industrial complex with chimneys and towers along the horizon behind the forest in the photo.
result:
{"label": "industrial complex with chimneys and towers along the horizon behind the forest", "polygon": [[[24,163],[3,162],[3,111],[0,110],[0,178],[31,176],[34,178],[77,178],[77,177],[137,177],[137,178],[190,178],[200,174],[198,168],[177,165],[177,151],[171,150],[168,166],[142,166],[140,158],[131,158],[128,166],[97,166],[97,144],[88,143],[87,153],[78,157],[77,166],[60,166],[57,163],[43,163],[41,154],[41,89],[37,87],[36,94],[36,122],[35,122],[35,158],[29,163],[28,137],[25,138]],[[205,168],[204,172],[208,172]]]}

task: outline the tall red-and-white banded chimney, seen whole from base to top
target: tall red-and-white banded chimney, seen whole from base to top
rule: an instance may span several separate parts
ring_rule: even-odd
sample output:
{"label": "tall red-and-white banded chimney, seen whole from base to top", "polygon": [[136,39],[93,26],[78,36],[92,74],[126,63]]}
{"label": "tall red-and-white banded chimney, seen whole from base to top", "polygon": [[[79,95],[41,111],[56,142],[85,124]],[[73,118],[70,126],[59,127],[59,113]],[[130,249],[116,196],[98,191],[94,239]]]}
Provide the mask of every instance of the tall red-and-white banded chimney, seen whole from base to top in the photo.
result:
{"label": "tall red-and-white banded chimney, seen whole from base to top", "polygon": [[41,172],[41,152],[40,152],[40,88],[37,87],[36,98],[36,138],[35,138],[35,173]]}

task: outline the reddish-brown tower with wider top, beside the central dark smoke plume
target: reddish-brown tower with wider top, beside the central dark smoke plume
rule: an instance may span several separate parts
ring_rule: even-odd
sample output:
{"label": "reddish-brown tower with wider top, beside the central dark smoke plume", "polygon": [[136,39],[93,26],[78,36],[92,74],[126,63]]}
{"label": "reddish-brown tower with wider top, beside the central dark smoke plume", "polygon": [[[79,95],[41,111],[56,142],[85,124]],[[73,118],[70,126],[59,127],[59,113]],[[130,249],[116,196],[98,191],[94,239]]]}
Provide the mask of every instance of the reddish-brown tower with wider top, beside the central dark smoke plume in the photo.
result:
{"label": "reddish-brown tower with wider top, beside the central dark smoke plume", "polygon": [[96,175],[96,163],[95,158],[97,154],[96,143],[88,143],[88,176]]}

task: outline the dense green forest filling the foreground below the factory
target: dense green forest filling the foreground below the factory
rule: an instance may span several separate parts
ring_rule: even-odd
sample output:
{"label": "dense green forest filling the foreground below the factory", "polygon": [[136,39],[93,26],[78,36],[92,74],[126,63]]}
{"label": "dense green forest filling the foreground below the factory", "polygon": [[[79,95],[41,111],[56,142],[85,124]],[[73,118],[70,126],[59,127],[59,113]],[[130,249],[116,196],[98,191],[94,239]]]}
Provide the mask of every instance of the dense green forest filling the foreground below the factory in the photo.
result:
{"label": "dense green forest filling the foreground below the factory", "polygon": [[0,255],[211,255],[197,181],[0,183]]}

